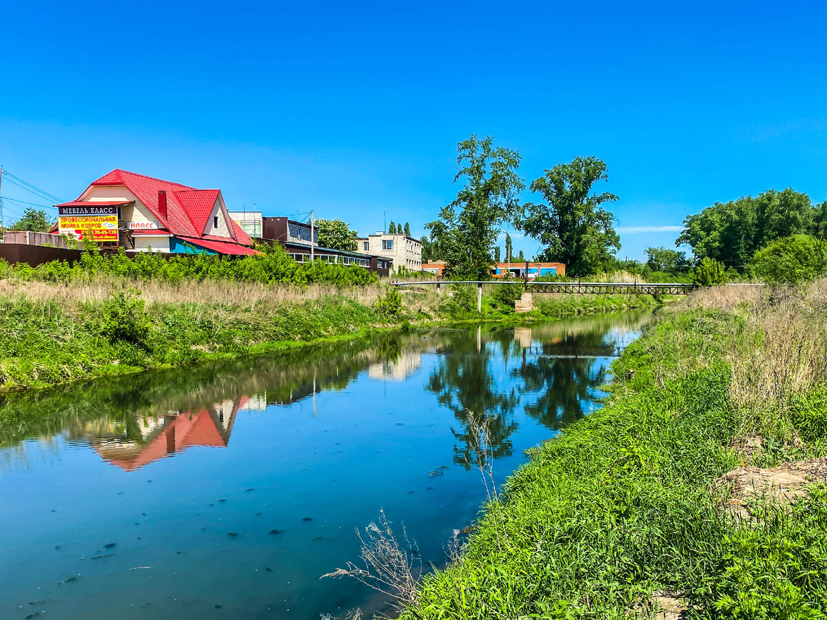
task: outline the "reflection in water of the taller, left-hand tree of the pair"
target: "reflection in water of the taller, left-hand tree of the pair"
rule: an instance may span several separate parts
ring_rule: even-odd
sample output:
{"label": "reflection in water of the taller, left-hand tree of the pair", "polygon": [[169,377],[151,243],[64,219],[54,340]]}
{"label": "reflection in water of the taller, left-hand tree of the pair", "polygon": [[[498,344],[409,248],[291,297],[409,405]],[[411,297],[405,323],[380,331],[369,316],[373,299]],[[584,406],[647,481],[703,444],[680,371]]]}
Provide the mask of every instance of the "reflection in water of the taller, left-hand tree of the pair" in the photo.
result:
{"label": "reflection in water of the taller, left-hand tree of the pair", "polygon": [[477,351],[476,344],[476,332],[457,333],[428,382],[428,389],[437,394],[437,402],[451,409],[462,425],[459,431],[452,429],[459,441],[454,446],[454,462],[466,469],[476,465],[478,458],[473,433],[468,431],[472,416],[494,417],[489,439],[495,458],[511,454],[509,436],[518,426],[509,419],[519,401],[517,394],[514,389],[509,393],[496,391],[490,373],[492,355],[485,346]]}

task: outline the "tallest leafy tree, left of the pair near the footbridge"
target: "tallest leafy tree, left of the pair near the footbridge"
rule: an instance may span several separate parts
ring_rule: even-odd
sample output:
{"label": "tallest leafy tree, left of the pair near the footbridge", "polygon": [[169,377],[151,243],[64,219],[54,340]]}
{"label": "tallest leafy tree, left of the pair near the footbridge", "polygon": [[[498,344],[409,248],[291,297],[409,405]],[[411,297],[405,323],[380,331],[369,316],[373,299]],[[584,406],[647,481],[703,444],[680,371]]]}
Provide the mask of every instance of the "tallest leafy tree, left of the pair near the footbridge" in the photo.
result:
{"label": "tallest leafy tree, left of the pair near the footbridge", "polygon": [[457,145],[461,166],[454,182],[465,179],[457,199],[426,225],[447,273],[462,279],[489,279],[500,228],[519,217],[519,193],[525,188],[517,174],[516,150],[495,147],[490,136],[471,136]]}

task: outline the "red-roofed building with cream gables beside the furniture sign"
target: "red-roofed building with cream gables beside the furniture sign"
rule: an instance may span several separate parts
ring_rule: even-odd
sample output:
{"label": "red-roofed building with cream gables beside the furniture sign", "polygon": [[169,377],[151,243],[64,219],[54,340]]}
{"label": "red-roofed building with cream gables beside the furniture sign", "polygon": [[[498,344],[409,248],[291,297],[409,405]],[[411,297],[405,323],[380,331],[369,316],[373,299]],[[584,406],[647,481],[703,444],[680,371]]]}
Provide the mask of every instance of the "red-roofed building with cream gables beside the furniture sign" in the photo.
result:
{"label": "red-roofed building with cream gables beside the furniture sign", "polygon": [[[127,250],[252,255],[252,240],[227,212],[220,189],[196,189],[114,169],[71,203],[55,205],[61,219],[117,213],[117,245]],[[59,223],[55,231],[65,231]]]}

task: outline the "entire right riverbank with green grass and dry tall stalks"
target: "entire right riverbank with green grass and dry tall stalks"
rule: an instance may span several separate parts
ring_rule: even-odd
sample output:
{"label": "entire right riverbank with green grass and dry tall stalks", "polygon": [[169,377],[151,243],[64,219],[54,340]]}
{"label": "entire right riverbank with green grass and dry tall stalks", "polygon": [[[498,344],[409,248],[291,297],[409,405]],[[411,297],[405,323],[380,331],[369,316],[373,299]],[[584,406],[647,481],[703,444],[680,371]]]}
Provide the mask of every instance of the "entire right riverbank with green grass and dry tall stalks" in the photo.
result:
{"label": "entire right riverbank with green grass and dry tall stalks", "polygon": [[[664,313],[607,406],[509,479],[405,618],[825,618],[827,282]],[[739,466],[752,491],[721,484]],[[779,471],[808,473],[756,492]]]}

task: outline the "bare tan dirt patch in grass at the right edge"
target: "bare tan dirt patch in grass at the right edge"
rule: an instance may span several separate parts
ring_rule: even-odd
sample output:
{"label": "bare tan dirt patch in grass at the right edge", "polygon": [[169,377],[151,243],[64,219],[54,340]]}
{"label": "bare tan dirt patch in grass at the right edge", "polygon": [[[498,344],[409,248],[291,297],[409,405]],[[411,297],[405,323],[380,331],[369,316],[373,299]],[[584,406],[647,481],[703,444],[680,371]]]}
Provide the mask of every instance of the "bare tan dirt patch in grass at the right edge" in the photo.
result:
{"label": "bare tan dirt patch in grass at the right edge", "polygon": [[807,485],[827,482],[827,458],[796,460],[777,467],[736,467],[715,480],[724,491],[722,507],[750,519],[748,504],[756,500],[789,505],[807,494]]}

